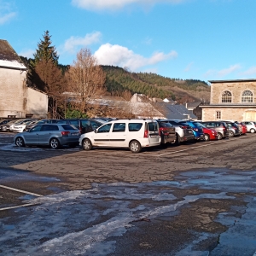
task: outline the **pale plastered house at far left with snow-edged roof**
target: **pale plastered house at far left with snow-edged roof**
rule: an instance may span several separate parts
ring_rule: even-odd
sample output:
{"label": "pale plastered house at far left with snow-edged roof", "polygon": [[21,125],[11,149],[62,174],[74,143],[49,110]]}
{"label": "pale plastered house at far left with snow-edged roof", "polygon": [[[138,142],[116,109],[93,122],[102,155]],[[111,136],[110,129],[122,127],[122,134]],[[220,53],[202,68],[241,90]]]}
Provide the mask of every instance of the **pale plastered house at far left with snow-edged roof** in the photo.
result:
{"label": "pale plastered house at far left with snow-edged roof", "polygon": [[0,117],[47,117],[48,96],[27,87],[26,73],[19,55],[0,39]]}

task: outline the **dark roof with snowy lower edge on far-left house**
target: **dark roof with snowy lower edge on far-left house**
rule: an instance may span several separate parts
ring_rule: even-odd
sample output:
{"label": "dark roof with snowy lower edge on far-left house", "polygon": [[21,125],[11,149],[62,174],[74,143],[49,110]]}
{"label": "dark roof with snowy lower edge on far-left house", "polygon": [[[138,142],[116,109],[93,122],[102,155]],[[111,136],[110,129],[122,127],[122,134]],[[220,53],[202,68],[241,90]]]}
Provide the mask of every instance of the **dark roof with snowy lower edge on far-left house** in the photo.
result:
{"label": "dark roof with snowy lower edge on far-left house", "polygon": [[0,39],[0,67],[19,70],[27,69],[15,49],[10,46],[8,41],[2,39]]}

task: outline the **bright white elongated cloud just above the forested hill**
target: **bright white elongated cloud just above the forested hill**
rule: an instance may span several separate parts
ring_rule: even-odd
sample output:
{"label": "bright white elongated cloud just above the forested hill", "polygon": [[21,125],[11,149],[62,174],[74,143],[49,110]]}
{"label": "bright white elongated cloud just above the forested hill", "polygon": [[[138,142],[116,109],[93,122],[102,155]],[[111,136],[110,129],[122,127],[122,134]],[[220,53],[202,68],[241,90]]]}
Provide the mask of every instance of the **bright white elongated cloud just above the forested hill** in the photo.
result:
{"label": "bright white elongated cloud just above the forested hill", "polygon": [[95,52],[96,59],[102,65],[113,65],[118,67],[128,67],[131,71],[137,70],[139,67],[154,65],[160,61],[172,59],[177,56],[176,51],[168,54],[155,52],[150,58],[135,54],[131,49],[118,44],[103,44]]}

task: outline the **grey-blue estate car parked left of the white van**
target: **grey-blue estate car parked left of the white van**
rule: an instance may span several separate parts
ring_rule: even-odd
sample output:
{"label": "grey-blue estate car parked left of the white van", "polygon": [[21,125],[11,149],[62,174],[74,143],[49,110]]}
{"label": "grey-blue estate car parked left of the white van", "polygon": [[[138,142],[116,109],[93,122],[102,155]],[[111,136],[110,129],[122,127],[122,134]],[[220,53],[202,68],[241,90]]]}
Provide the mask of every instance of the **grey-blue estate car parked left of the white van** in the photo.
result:
{"label": "grey-blue estate car parked left of the white van", "polygon": [[80,131],[73,125],[44,124],[16,134],[14,142],[18,147],[26,145],[49,145],[50,148],[60,148],[64,145],[75,147],[79,145],[79,137]]}

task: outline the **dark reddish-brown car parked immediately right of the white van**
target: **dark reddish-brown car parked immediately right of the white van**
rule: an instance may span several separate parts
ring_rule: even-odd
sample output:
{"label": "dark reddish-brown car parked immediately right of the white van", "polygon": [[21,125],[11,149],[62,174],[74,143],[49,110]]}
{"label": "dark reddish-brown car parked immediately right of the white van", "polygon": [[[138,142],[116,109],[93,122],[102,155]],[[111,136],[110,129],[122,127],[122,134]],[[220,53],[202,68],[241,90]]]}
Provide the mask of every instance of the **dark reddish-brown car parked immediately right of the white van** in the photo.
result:
{"label": "dark reddish-brown car parked immediately right of the white van", "polygon": [[166,119],[156,120],[159,125],[161,145],[166,145],[168,143],[175,143],[176,141],[176,132],[173,125],[171,125]]}

